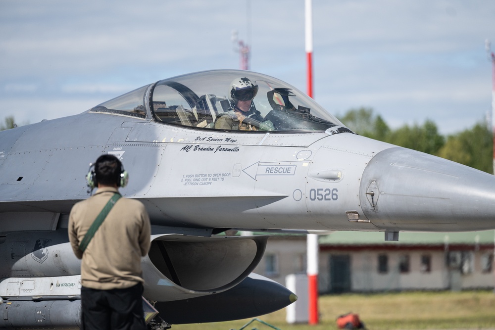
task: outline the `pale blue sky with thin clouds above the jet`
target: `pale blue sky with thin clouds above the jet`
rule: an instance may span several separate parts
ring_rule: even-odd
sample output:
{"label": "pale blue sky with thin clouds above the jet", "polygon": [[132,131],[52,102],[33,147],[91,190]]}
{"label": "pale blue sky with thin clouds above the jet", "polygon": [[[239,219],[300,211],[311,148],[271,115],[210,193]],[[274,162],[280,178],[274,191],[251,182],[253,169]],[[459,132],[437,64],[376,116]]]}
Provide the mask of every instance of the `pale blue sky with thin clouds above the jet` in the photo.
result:
{"label": "pale blue sky with thin clouds above the jet", "polygon": [[[491,114],[485,40],[495,1],[313,0],[314,92],[333,114],[372,107],[393,128],[442,134]],[[304,0],[2,0],[0,120],[83,112],[151,82],[239,68],[306,91]]]}

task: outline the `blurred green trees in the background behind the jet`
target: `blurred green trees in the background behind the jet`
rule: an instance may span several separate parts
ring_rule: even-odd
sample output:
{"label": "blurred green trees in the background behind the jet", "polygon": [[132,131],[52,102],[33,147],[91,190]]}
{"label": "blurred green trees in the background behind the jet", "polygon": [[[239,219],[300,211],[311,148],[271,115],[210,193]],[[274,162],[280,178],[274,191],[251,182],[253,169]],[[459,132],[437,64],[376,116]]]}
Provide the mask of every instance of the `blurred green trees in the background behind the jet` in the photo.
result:
{"label": "blurred green trees in the background behind the jet", "polygon": [[[426,152],[493,174],[493,136],[486,122],[476,123],[470,129],[445,137],[438,132],[437,125],[428,119],[422,125],[403,125],[392,130],[372,108],[350,109],[344,116],[339,116],[339,120],[359,135]],[[14,117],[8,116],[0,124],[0,131],[14,127]]]}

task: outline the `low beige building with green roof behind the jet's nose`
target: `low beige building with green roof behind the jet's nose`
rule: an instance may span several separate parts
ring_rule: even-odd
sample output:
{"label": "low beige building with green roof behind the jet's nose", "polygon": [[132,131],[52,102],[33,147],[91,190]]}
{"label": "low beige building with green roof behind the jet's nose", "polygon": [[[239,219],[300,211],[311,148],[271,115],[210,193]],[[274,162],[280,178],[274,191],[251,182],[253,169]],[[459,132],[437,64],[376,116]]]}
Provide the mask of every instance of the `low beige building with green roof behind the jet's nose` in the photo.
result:
{"label": "low beige building with green roof behind the jet's nose", "polygon": [[[470,233],[334,232],[320,236],[320,293],[494,288],[494,231]],[[254,270],[285,284],[306,272],[306,236],[268,240]]]}

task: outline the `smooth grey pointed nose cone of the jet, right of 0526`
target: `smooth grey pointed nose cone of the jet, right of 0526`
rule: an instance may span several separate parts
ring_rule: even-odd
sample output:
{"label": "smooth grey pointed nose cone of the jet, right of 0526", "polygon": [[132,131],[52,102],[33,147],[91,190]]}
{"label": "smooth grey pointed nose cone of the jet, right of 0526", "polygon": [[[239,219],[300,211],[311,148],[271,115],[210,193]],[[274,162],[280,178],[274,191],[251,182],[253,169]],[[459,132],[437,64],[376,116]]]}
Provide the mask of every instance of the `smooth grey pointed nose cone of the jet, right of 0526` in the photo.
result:
{"label": "smooth grey pointed nose cone of the jet, right of 0526", "polygon": [[387,231],[495,228],[493,175],[400,147],[370,160],[360,202],[368,220]]}

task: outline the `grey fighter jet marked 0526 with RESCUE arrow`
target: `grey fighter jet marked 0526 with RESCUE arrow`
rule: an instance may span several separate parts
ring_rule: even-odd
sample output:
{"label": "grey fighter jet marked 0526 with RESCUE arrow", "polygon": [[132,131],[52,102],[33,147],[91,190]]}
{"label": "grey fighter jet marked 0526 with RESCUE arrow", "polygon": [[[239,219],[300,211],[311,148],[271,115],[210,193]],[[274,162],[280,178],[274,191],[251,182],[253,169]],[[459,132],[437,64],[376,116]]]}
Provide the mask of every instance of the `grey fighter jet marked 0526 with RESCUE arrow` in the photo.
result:
{"label": "grey fighter jet marked 0526 with RESCUE arrow", "polygon": [[[0,132],[0,328],[80,325],[68,214],[99,155],[152,223],[144,298],[167,324],[226,321],[296,297],[251,274],[267,236],[232,230],[449,232],[495,228],[495,177],[353,133],[278,79],[173,77],[75,116]],[[101,251],[101,253],[105,253]]]}

